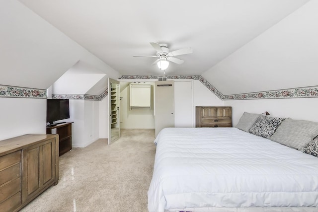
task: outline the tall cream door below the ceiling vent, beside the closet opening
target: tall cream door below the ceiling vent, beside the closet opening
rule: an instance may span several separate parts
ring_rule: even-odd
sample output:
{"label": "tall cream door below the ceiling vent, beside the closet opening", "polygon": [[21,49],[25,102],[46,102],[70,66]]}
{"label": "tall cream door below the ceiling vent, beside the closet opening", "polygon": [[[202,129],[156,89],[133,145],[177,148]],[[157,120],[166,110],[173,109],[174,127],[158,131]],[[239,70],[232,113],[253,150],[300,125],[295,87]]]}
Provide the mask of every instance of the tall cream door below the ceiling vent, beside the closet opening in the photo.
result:
{"label": "tall cream door below the ceiling vent, beside the closet opening", "polygon": [[155,134],[174,127],[174,81],[155,82]]}

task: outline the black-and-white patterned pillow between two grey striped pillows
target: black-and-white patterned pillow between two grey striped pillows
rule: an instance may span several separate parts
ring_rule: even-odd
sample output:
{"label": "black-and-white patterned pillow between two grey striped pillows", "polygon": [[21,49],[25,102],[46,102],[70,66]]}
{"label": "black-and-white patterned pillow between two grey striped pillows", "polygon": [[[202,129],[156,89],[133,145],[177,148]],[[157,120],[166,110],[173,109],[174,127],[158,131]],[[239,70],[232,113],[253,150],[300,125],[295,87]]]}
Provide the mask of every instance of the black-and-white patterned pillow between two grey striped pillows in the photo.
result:
{"label": "black-and-white patterned pillow between two grey striped pillows", "polygon": [[283,118],[260,116],[249,129],[249,133],[269,139],[284,120]]}

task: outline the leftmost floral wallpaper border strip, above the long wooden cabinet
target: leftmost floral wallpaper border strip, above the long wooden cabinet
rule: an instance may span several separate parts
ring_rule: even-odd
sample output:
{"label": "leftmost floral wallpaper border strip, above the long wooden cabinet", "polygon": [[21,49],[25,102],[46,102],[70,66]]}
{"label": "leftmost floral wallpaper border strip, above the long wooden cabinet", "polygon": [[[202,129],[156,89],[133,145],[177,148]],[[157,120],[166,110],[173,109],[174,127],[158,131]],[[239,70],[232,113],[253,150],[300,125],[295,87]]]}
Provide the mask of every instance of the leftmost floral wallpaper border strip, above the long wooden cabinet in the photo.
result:
{"label": "leftmost floral wallpaper border strip, above the long wooden cabinet", "polygon": [[46,90],[0,85],[0,97],[46,99]]}

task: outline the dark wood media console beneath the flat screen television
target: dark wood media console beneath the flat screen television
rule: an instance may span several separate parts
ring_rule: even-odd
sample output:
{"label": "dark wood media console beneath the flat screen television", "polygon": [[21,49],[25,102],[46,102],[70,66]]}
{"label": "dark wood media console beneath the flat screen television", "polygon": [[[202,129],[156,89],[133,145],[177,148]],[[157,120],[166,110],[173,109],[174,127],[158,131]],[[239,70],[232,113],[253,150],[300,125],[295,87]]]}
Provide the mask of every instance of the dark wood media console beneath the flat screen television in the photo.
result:
{"label": "dark wood media console beneath the flat screen television", "polygon": [[46,134],[52,134],[52,130],[56,129],[56,134],[60,137],[59,156],[72,150],[72,123],[73,122],[67,122],[46,127]]}

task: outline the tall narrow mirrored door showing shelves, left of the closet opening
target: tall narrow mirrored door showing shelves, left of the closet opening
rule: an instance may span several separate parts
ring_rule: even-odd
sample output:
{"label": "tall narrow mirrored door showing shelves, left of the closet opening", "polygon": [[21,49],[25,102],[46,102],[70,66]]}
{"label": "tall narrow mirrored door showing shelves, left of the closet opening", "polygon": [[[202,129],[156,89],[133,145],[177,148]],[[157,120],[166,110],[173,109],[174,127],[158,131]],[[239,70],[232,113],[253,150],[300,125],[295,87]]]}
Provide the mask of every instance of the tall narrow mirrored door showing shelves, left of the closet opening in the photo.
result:
{"label": "tall narrow mirrored door showing shelves, left of the closet opening", "polygon": [[108,145],[120,138],[120,85],[108,78]]}

